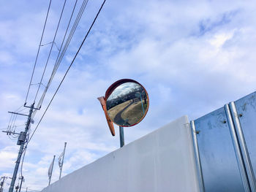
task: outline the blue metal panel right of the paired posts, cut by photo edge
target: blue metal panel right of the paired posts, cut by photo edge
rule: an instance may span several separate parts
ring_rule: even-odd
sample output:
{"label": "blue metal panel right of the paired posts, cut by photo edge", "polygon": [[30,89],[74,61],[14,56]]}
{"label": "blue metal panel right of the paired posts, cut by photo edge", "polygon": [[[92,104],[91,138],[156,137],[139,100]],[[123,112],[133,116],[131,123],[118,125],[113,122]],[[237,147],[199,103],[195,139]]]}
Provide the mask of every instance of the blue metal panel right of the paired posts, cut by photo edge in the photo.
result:
{"label": "blue metal panel right of the paired posts, cut by photo edge", "polygon": [[249,160],[256,175],[256,92],[235,102]]}

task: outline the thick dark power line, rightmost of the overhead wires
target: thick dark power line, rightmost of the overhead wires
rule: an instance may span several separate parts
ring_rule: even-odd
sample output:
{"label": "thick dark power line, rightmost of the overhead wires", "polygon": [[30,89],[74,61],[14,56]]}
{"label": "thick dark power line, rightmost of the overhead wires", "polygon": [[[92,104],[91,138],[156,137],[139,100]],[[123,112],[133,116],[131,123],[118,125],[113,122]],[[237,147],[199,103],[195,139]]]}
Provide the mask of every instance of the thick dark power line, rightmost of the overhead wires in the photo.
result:
{"label": "thick dark power line, rightmost of the overhead wires", "polygon": [[77,53],[75,53],[75,56],[74,56],[74,58],[72,59],[72,62],[71,62],[71,64],[69,65],[69,67],[68,67],[68,69],[67,69],[67,72],[64,74],[64,77],[62,78],[62,80],[61,80],[61,82],[60,82],[58,88],[56,89],[55,93],[53,94],[52,99],[50,99],[50,103],[49,103],[48,106],[46,107],[45,112],[43,113],[42,117],[40,118],[39,122],[37,123],[36,128],[34,129],[33,133],[31,134],[31,137],[30,137],[29,141],[27,142],[27,145],[28,145],[29,142],[31,141],[32,137],[34,136],[35,131],[37,131],[37,128],[38,128],[39,124],[41,123],[42,118],[45,116],[45,113],[47,112],[48,108],[50,107],[50,104],[52,103],[54,97],[56,96],[56,93],[59,91],[59,88],[61,87],[62,82],[64,81],[65,77],[67,76],[67,73],[69,72],[70,67],[71,67],[72,64],[74,63],[75,58],[77,57],[77,55],[78,55],[78,53],[79,53],[81,47],[83,46],[83,43],[86,41],[86,39],[87,39],[87,37],[88,37],[88,35],[89,35],[90,31],[91,31],[92,26],[94,26],[94,23],[95,23],[95,21],[97,20],[98,15],[99,15],[99,12],[102,10],[102,7],[103,7],[103,5],[105,4],[105,1],[106,1],[106,0],[103,1],[101,7],[99,8],[99,11],[97,12],[96,17],[94,18],[94,21],[91,23],[91,26],[90,26],[89,30],[87,31],[87,33],[86,33],[86,37],[84,37],[83,42],[81,43],[80,47],[78,48]]}

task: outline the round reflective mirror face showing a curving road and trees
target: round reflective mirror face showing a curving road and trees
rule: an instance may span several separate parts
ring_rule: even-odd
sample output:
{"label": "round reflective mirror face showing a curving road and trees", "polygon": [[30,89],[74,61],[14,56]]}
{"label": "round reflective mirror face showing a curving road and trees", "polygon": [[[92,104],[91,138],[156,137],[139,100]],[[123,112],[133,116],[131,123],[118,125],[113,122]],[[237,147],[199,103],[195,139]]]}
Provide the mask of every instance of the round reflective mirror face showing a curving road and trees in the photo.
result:
{"label": "round reflective mirror face showing a curving road and trees", "polygon": [[148,95],[138,83],[124,82],[108,96],[106,104],[113,123],[118,126],[134,126],[148,111]]}

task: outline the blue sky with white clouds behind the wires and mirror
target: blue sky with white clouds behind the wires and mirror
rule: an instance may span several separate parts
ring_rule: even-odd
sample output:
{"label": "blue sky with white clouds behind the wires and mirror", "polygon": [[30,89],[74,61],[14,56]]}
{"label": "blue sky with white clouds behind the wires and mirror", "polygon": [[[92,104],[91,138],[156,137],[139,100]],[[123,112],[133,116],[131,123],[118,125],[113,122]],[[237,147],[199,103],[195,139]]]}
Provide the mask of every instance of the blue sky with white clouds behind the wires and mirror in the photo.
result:
{"label": "blue sky with white clouds behind the wires and mirror", "polygon": [[[37,55],[49,1],[2,1],[0,7],[0,128],[24,104]],[[32,84],[42,77],[64,1],[52,0],[45,37]],[[41,110],[72,61],[102,0],[89,1]],[[47,84],[75,0],[67,0],[56,45],[39,90]],[[78,0],[75,17],[82,1]],[[131,78],[148,91],[150,106],[137,126],[125,128],[129,143],[166,123],[188,115],[190,120],[255,91],[255,1],[106,1],[53,103],[29,143],[23,164],[23,187],[42,190],[48,185],[53,155],[67,152],[63,175],[73,172],[119,147],[112,137],[97,97],[116,80]],[[48,44],[48,45],[45,45]],[[28,104],[38,85],[31,85]],[[36,102],[38,99],[36,100]],[[37,103],[36,103],[37,104]],[[23,110],[23,108],[20,108]],[[22,112],[27,112],[23,110]],[[26,118],[16,119],[17,132]],[[15,127],[14,127],[15,128]],[[118,135],[118,127],[116,127]],[[19,146],[0,134],[0,175],[12,177]],[[52,181],[59,178],[53,169]],[[7,180],[5,190],[9,188]]]}

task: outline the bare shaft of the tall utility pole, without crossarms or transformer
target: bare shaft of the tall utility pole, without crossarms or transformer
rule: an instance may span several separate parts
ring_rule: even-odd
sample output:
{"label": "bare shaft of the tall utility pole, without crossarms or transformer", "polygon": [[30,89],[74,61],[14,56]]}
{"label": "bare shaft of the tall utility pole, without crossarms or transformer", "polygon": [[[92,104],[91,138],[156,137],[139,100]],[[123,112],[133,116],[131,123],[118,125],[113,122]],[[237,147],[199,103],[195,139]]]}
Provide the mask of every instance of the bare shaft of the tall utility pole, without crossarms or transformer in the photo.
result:
{"label": "bare shaft of the tall utility pole, without crossarms or transformer", "polygon": [[[25,128],[25,132],[24,132],[25,138],[26,138],[26,134],[29,131],[29,126],[30,126],[30,123],[31,123],[31,115],[32,115],[33,109],[34,109],[34,104],[31,104],[31,107],[30,107],[30,110],[29,110],[29,117],[28,117],[28,120],[26,121],[26,128]],[[23,153],[24,145],[25,145],[25,142],[22,142],[21,145],[20,145],[20,150],[19,150],[18,158],[17,158],[16,164],[15,164],[15,169],[14,169],[14,172],[13,172],[13,175],[12,175],[12,182],[11,182],[11,185],[10,185],[10,188],[9,188],[9,192],[13,192],[13,188],[14,188],[14,185],[15,185],[15,180],[16,180],[16,177],[17,177],[17,172],[18,172],[19,165],[20,165],[20,158],[21,158],[21,155]]]}

